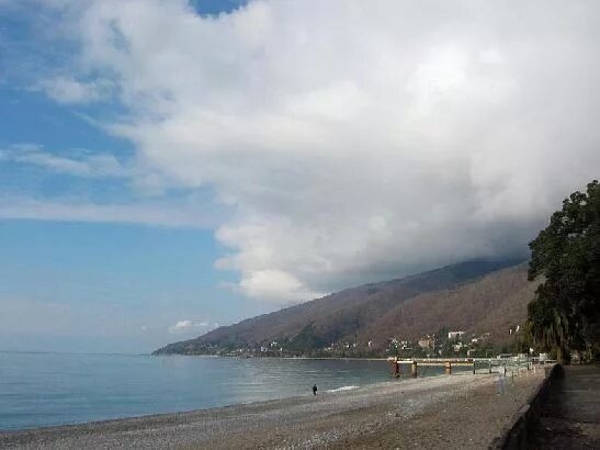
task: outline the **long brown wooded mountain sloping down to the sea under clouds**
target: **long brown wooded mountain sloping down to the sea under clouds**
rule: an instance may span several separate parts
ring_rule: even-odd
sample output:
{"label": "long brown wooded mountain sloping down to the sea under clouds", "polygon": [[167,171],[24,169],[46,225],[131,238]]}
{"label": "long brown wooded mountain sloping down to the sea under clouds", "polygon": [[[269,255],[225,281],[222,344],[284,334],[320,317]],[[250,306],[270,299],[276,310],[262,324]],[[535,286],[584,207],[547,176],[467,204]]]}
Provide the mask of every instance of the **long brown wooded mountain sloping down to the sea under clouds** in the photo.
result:
{"label": "long brown wooded mountain sloping down to the sea under clouds", "polygon": [[295,351],[336,342],[365,348],[370,341],[370,349],[383,349],[390,337],[415,340],[442,328],[508,341],[509,328],[524,323],[535,289],[527,280],[527,265],[518,262],[466,261],[347,289],[169,344],[154,355],[260,348],[273,341]]}

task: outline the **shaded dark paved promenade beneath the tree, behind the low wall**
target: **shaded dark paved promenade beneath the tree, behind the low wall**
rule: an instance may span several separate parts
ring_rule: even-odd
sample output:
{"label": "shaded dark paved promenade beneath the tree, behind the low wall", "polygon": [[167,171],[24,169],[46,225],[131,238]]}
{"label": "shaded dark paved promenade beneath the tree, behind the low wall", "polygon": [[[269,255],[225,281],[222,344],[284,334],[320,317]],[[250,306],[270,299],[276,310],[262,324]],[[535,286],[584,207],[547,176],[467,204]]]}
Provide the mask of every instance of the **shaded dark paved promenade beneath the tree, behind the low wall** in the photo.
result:
{"label": "shaded dark paved promenade beneath the tree, behind the low wall", "polygon": [[567,365],[533,432],[535,449],[600,449],[600,367]]}

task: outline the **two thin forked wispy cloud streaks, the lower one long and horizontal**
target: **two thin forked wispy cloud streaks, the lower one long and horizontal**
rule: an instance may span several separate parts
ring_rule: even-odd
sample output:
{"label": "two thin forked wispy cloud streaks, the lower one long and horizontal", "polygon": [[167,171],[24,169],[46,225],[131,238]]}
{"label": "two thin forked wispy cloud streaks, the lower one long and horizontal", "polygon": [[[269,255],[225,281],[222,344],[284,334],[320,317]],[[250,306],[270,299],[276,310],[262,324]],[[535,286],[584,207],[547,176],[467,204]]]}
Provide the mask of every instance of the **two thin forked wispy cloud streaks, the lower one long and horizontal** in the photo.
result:
{"label": "two thin forked wispy cloud streaks, the lower one long and horizontal", "polygon": [[[216,205],[197,204],[193,195],[173,200],[162,191],[163,181],[152,170],[111,154],[81,149],[53,153],[36,144],[15,144],[0,149],[0,164],[35,166],[45,172],[110,182],[124,179],[140,195],[117,203],[70,198],[0,195],[0,218],[63,222],[104,222],[149,226],[215,228],[223,214]],[[207,212],[208,206],[211,212]]]}

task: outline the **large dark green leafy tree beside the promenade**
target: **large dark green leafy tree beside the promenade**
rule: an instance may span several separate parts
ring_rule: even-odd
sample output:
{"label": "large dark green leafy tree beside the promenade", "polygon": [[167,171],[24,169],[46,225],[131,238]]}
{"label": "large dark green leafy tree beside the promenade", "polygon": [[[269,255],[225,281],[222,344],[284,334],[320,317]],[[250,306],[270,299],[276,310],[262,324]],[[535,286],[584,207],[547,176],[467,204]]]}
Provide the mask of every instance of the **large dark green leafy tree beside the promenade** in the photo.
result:
{"label": "large dark green leafy tree beside the promenade", "polygon": [[568,360],[570,350],[598,352],[600,187],[574,192],[530,243],[529,279],[542,278],[528,306],[533,345]]}

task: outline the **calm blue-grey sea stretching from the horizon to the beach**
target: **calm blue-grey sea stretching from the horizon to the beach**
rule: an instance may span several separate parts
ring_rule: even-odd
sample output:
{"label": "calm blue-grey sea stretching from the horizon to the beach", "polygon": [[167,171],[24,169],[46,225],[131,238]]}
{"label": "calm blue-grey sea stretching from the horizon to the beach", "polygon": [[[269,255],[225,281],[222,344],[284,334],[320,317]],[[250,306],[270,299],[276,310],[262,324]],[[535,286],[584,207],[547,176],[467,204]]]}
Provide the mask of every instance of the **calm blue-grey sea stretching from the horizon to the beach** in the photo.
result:
{"label": "calm blue-grey sea stretching from the horizon to the beach", "polygon": [[0,431],[313,395],[313,384],[322,393],[378,382],[398,382],[386,361],[0,352]]}

